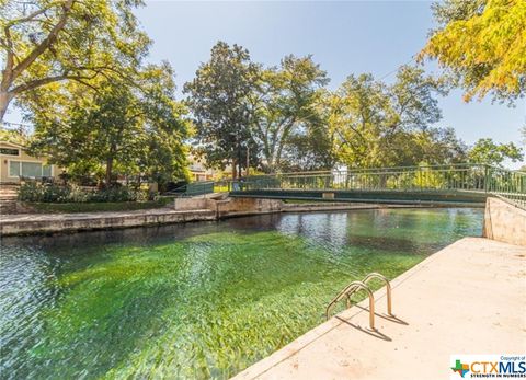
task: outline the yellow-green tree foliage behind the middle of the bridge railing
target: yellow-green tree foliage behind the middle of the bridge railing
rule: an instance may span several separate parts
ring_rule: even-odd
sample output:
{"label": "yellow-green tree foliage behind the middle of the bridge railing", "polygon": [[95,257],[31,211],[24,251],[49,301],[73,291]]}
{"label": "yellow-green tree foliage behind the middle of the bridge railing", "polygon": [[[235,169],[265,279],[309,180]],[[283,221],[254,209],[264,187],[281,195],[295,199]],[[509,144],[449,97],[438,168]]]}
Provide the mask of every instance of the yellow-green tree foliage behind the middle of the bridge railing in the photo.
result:
{"label": "yellow-green tree foliage behind the middle of the bridge railing", "polygon": [[333,156],[350,168],[460,160],[465,147],[454,131],[432,127],[442,118],[436,95],[446,92],[445,83],[415,67],[401,67],[392,85],[350,76],[321,105]]}

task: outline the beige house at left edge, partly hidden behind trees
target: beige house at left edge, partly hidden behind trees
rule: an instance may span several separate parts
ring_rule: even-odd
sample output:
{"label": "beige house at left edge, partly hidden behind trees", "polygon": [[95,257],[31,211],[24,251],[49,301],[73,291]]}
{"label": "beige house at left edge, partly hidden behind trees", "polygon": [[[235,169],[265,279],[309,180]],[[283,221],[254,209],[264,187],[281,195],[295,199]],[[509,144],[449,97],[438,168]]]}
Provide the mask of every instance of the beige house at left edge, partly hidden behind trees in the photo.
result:
{"label": "beige house at left edge, partly hidden behind trees", "polygon": [[56,165],[47,164],[46,159],[30,156],[24,147],[9,141],[0,141],[0,161],[1,184],[18,184],[21,176],[58,179],[62,172]]}

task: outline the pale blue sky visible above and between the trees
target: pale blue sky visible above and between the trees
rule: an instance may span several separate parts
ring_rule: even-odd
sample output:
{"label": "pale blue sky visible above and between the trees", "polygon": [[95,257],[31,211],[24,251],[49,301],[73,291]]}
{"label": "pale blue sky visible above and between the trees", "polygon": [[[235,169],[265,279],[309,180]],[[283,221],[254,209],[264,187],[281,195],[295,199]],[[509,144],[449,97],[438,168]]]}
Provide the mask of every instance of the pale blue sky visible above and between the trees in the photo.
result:
{"label": "pale blue sky visible above and between the trees", "polygon": [[[219,39],[247,47],[252,59],[264,65],[277,65],[287,54],[312,54],[334,89],[351,73],[381,78],[410,61],[433,27],[430,5],[426,1],[147,1],[136,14],[153,39],[150,60],[170,61],[179,89]],[[436,70],[434,64],[426,67]],[[393,79],[390,74],[385,81]],[[439,103],[444,118],[437,125],[454,127],[467,143],[481,137],[521,140],[525,100],[515,108],[490,100],[466,104],[457,90]],[[5,118],[19,119],[14,112]]]}

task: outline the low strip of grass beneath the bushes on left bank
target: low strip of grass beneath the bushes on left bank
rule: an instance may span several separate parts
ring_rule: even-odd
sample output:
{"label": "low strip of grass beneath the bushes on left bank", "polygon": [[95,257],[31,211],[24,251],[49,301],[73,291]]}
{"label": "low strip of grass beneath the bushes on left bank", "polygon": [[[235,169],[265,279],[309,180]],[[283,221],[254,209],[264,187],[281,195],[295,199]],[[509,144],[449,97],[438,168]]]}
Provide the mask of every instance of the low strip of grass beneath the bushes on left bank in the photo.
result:
{"label": "low strip of grass beneath the bushes on left bank", "polygon": [[158,200],[149,201],[108,201],[108,203],[78,203],[78,204],[47,204],[47,203],[25,203],[35,210],[35,212],[96,212],[96,211],[133,211],[161,208],[173,201],[173,198],[163,197]]}

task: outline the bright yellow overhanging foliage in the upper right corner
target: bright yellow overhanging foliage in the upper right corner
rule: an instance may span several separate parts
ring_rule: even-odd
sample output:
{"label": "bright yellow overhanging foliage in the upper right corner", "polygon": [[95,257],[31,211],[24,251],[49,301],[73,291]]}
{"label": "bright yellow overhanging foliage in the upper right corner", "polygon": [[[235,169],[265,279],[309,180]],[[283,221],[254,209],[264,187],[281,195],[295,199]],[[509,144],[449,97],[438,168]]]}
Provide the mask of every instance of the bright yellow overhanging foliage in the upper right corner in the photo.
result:
{"label": "bright yellow overhanging foliage in the upper right corner", "polygon": [[446,0],[434,5],[438,27],[420,54],[437,59],[465,100],[513,102],[526,90],[526,1]]}

